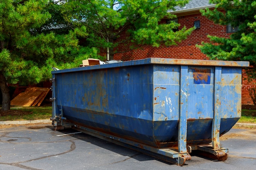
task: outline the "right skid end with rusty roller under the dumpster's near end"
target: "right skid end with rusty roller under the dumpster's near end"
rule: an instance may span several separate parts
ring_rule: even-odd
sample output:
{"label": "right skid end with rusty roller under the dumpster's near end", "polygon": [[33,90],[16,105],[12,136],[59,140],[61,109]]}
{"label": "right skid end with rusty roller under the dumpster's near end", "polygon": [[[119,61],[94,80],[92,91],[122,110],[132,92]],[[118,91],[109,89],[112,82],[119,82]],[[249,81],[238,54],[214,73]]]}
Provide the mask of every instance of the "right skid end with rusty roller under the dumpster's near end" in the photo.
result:
{"label": "right skid end with rusty roller under the dumpster's near end", "polygon": [[202,151],[201,155],[218,159],[219,161],[225,161],[229,156],[229,150],[227,148],[213,149],[211,145],[206,145],[196,146],[196,149]]}

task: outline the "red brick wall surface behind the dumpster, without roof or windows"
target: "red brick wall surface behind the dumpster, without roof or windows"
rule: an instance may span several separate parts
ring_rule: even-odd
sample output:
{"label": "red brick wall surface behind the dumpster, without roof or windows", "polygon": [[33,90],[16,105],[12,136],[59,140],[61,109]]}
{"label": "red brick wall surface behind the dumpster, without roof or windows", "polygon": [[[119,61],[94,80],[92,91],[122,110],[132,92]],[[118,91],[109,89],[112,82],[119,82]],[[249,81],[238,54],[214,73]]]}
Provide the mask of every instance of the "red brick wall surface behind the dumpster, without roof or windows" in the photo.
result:
{"label": "red brick wall surface behind the dumpster, without roof or windows", "polygon": [[[218,37],[228,38],[230,33],[226,33],[226,26],[214,24],[201,14],[187,15],[178,17],[180,23],[179,29],[183,26],[186,28],[193,27],[194,21],[200,20],[200,28],[193,31],[193,33],[184,41],[177,44],[177,46],[161,46],[159,48],[152,46],[142,46],[139,49],[127,51],[131,44],[124,42],[119,45],[119,51],[127,51],[125,53],[117,53],[114,55],[115,60],[129,61],[139,60],[148,57],[161,57],[161,58],[178,58],[178,59],[194,59],[194,60],[209,60],[209,58],[202,54],[201,51],[195,47],[196,44],[201,42],[209,42],[207,35],[216,35]],[[127,35],[121,35],[117,41],[125,40]],[[253,104],[249,96],[248,89],[256,87],[256,81],[248,82],[245,80],[246,75],[243,74],[243,87],[242,87],[242,104]]]}

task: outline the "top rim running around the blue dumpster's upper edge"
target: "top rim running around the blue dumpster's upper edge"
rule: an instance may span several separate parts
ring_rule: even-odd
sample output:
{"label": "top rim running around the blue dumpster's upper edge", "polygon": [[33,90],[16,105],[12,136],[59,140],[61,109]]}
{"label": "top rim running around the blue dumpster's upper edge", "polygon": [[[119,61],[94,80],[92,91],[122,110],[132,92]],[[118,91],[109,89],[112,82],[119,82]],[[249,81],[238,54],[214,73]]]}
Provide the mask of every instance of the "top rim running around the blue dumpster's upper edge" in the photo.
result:
{"label": "top rim running around the blue dumpster's upper edge", "polygon": [[94,66],[85,66],[77,68],[69,68],[64,70],[52,71],[55,73],[65,73],[72,71],[85,71],[104,68],[115,68],[123,66],[135,66],[145,64],[169,64],[169,65],[193,65],[193,66],[229,66],[229,67],[249,67],[249,62],[246,61],[222,61],[222,60],[187,60],[187,59],[172,59],[172,58],[146,58],[141,60],[132,60],[125,62],[117,62],[112,64],[101,64]]}

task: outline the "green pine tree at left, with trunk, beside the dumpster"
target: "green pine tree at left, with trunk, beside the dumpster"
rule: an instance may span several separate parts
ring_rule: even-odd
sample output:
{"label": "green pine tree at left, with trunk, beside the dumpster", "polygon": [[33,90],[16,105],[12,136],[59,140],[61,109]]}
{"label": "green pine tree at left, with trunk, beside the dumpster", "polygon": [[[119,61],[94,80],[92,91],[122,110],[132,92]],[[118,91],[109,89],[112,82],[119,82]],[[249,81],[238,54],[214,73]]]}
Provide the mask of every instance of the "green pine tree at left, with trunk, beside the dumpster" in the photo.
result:
{"label": "green pine tree at left, with trunk, beside the dumpster", "polygon": [[96,49],[80,50],[77,38],[87,35],[84,26],[57,31],[60,24],[55,19],[61,15],[52,17],[51,13],[60,10],[59,7],[54,0],[0,1],[2,110],[10,109],[7,84],[38,83],[51,77],[52,66],[77,67],[77,62],[88,57],[85,56],[88,51],[92,55],[97,53]]}

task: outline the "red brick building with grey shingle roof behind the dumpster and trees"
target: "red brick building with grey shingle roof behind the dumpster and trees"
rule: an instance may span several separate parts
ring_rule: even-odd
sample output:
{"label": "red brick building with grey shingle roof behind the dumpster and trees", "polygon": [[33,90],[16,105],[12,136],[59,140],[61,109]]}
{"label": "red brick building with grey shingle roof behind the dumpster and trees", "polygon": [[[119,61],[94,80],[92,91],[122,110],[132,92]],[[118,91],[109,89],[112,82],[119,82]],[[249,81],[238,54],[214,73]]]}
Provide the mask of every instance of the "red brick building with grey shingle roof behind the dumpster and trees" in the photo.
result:
{"label": "red brick building with grey shingle roof behind the dumpster and trees", "polygon": [[[162,46],[159,48],[152,46],[142,46],[140,49],[127,51],[125,53],[117,53],[114,55],[115,60],[129,61],[139,60],[148,57],[162,57],[162,58],[176,58],[176,59],[195,59],[195,60],[209,60],[209,58],[201,53],[200,49],[195,47],[196,44],[203,42],[209,42],[207,35],[216,35],[218,37],[229,38],[234,28],[229,29],[228,26],[222,26],[214,24],[211,20],[202,16],[200,9],[214,8],[214,4],[209,4],[209,0],[190,0],[186,7],[177,8],[176,11],[168,11],[177,15],[177,22],[180,24],[180,28],[184,25],[187,28],[194,25],[198,28],[193,33],[177,46]],[[168,22],[163,20],[162,22]],[[122,35],[117,41],[126,38],[126,35]],[[119,48],[127,49],[129,44],[123,44]],[[246,75],[243,74],[243,87],[242,87],[242,104],[253,104],[251,97],[249,96],[248,89],[256,87],[255,81],[248,82],[245,80]]]}

